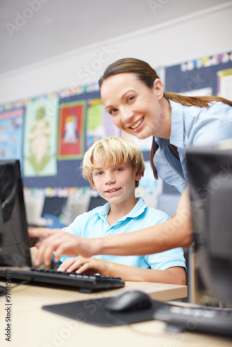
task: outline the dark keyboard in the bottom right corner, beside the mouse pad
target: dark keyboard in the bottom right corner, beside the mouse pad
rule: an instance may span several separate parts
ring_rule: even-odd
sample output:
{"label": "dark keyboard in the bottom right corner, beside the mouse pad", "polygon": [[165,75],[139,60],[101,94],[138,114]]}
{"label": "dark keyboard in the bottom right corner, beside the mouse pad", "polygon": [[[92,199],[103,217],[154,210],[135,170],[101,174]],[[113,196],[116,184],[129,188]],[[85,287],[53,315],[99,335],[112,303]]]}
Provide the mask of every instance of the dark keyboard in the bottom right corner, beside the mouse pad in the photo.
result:
{"label": "dark keyboard in the bottom right corner, beside the mouse pad", "polygon": [[217,307],[160,307],[154,319],[165,321],[167,330],[188,330],[232,337],[232,310]]}

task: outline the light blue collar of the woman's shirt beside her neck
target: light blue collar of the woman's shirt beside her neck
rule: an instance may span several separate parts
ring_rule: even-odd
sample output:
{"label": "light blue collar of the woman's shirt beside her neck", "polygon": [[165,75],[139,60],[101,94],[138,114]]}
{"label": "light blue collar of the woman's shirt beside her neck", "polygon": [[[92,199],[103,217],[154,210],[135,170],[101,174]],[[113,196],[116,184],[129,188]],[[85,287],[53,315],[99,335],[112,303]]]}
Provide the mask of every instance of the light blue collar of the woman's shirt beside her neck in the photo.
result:
{"label": "light blue collar of the woman's shirt beside her neck", "polygon": [[183,148],[183,105],[169,100],[172,108],[172,126],[170,144]]}

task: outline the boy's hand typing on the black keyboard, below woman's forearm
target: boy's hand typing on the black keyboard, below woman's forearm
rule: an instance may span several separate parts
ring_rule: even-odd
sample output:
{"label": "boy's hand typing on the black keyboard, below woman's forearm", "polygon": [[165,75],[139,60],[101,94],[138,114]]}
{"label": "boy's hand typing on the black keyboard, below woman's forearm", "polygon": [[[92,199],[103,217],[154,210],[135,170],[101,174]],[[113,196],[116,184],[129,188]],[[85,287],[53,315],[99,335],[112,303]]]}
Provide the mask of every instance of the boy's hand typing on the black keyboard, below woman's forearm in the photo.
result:
{"label": "boy's hand typing on the black keyboard, below woman's forearm", "polygon": [[97,258],[85,258],[79,255],[78,257],[67,258],[60,265],[58,271],[67,271],[76,273],[100,273],[101,275],[107,274],[108,263],[105,260],[100,260]]}

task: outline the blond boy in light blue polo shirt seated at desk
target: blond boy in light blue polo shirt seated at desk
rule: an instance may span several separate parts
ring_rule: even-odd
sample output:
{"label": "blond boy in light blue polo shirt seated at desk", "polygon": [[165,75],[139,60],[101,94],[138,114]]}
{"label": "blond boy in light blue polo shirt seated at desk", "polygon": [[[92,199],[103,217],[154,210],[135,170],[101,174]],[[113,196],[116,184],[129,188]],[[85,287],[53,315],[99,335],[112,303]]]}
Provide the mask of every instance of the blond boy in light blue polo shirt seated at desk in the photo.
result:
{"label": "blond boy in light blue polo shirt seated at desk", "polygon": [[[82,169],[83,177],[108,203],[76,217],[63,229],[65,232],[57,230],[44,239],[39,246],[38,262],[42,256],[47,259],[63,242],[69,242],[71,249],[76,236],[103,237],[140,230],[169,219],[164,212],[147,207],[142,198],[135,198],[135,187],[144,174],[144,161],[142,152],[133,144],[119,137],[101,139],[85,153]],[[66,254],[74,255],[74,249]],[[185,285],[185,259],[181,248],[145,256],[61,255],[60,261],[59,271]]]}

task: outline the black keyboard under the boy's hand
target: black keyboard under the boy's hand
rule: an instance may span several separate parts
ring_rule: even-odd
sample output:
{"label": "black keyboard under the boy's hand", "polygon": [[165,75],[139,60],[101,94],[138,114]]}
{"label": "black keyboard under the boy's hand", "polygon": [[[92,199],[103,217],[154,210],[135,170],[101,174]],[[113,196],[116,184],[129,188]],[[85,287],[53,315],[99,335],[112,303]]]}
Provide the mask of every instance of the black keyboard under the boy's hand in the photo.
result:
{"label": "black keyboard under the boy's hand", "polygon": [[[86,273],[67,273],[50,269],[10,269],[8,273],[11,280],[28,281],[29,284],[58,285],[77,288],[81,292],[90,293],[94,289],[117,289],[124,287],[122,278],[90,275]],[[0,270],[0,278],[6,278],[6,271]]]}

